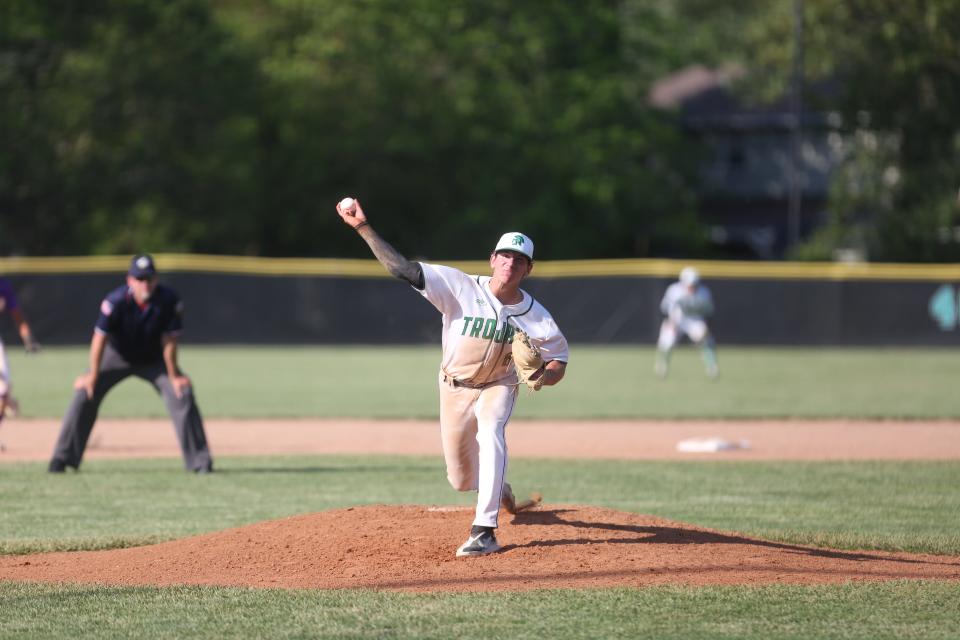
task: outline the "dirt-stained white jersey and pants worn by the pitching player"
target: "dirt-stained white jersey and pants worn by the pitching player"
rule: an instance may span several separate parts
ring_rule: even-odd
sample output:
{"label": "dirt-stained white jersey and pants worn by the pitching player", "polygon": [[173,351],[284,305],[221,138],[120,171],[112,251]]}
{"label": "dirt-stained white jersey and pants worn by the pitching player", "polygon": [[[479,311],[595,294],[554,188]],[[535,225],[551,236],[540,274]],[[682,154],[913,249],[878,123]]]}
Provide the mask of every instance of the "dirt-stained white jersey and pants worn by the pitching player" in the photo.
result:
{"label": "dirt-stained white jersey and pants worn by the pitching player", "polygon": [[496,527],[507,470],[505,431],[517,400],[513,334],[526,332],[545,361],[567,362],[567,340],[526,291],[521,302],[505,305],[490,290],[489,276],[420,265],[420,293],[443,314],[440,435],[447,479],[458,491],[477,491],[473,524]]}

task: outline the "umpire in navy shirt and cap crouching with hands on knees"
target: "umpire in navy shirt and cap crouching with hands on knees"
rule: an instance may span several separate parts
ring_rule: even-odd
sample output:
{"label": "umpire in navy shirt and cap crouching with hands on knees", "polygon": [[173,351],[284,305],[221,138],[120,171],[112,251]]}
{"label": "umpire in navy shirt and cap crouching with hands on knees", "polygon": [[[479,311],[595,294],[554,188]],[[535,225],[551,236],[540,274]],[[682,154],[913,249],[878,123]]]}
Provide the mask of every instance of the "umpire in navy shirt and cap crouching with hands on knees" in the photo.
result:
{"label": "umpire in navy shirt and cap crouching with hands on knees", "polygon": [[203,419],[190,379],[177,366],[177,339],[183,329],[183,303],[159,284],[153,258],[134,256],[127,284],[107,294],[90,341],[90,368],[73,383],[77,390],[63,418],[49,471],[77,469],[97,411],[107,392],[137,376],[163,396],[173,419],[188,470],[213,471]]}

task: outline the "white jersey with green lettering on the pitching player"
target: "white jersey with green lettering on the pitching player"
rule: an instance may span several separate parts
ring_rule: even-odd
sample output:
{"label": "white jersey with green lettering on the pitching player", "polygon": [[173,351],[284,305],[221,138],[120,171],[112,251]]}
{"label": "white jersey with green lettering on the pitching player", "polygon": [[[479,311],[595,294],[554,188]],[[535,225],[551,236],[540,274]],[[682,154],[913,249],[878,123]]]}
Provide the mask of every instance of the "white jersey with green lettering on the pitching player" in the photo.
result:
{"label": "white jersey with green lettering on the pitching player", "polygon": [[456,380],[483,385],[516,376],[510,342],[522,329],[545,361],[567,362],[567,340],[550,313],[521,289],[523,300],[501,303],[490,290],[489,276],[420,263],[420,293],[443,314],[441,371]]}

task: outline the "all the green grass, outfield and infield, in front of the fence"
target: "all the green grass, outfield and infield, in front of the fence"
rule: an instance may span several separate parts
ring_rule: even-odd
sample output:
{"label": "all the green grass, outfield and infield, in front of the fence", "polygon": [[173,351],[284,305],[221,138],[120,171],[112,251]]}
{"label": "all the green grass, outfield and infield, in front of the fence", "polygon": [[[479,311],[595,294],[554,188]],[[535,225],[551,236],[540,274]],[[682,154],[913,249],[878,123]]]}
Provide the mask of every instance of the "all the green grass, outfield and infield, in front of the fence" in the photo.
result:
{"label": "all the green grass, outfield and infield, in front of the fence", "polygon": [[[83,349],[10,354],[28,416],[59,416]],[[208,416],[435,416],[438,348],[213,349],[182,360]],[[723,377],[677,354],[583,348],[567,380],[524,396],[519,415],[957,418],[949,350],[724,349]],[[104,415],[163,415],[129,382]],[[960,555],[960,463],[659,462],[523,459],[520,491],[649,513],[768,539]],[[0,464],[0,553],[150,543],[347,505],[469,504],[432,457],[89,460],[51,476]],[[402,543],[402,541],[398,541]],[[656,587],[490,594],[117,588],[0,583],[2,638],[957,638],[960,584]]]}

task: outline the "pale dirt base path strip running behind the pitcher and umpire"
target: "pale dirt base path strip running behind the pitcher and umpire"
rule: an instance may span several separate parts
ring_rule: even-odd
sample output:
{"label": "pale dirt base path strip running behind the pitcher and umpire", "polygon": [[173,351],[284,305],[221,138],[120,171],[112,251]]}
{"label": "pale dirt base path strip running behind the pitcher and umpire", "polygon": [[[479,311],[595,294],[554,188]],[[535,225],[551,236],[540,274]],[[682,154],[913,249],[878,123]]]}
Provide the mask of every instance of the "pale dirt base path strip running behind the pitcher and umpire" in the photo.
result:
{"label": "pale dirt base path strip running behind the pitcher and umpire", "polygon": [[[9,420],[0,464],[46,460],[60,424]],[[435,420],[207,420],[214,456],[287,454],[440,455]],[[748,442],[719,453],[682,453],[689,438]],[[512,420],[511,457],[627,460],[960,459],[960,422],[869,420]],[[179,456],[168,420],[100,420],[85,460]]]}

